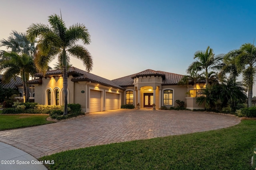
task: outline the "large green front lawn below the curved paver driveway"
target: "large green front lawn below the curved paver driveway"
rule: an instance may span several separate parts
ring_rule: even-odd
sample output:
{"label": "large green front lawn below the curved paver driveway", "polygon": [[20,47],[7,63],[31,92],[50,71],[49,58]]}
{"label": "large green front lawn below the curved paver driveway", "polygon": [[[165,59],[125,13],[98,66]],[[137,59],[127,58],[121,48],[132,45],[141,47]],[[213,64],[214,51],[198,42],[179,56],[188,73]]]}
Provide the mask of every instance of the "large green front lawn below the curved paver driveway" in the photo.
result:
{"label": "large green front lawn below the curved paver driveway", "polygon": [[69,150],[40,160],[54,160],[49,170],[250,170],[255,147],[256,121],[242,120],[226,129]]}

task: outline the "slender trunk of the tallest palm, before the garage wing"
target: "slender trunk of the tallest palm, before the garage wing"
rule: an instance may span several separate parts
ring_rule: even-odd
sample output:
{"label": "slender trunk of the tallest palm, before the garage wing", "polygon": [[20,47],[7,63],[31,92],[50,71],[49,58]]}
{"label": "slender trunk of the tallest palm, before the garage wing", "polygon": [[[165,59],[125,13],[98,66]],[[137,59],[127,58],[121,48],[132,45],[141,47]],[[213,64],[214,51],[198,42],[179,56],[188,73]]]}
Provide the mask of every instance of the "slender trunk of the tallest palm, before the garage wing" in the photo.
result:
{"label": "slender trunk of the tallest palm, before the garage wing", "polygon": [[63,64],[63,95],[64,95],[64,113],[68,114],[68,72],[67,72],[67,62],[66,62],[66,51],[62,51],[62,64]]}

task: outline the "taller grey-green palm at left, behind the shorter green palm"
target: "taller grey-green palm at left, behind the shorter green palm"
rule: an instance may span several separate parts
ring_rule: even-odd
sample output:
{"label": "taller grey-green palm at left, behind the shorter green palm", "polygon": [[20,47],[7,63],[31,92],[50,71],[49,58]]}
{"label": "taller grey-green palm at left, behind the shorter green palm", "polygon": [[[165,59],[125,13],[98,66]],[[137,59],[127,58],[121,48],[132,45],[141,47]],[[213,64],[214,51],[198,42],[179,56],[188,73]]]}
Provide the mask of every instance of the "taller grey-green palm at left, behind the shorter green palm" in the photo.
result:
{"label": "taller grey-green palm at left, behind the shorter green palm", "polygon": [[[36,51],[35,39],[29,40],[26,36],[26,33],[19,33],[18,31],[12,31],[8,39],[0,40],[0,47],[6,47],[7,50],[17,53],[18,55],[30,55],[32,58]],[[6,51],[0,51],[1,61],[10,59],[10,55],[4,55]],[[31,75],[31,74],[30,74]],[[28,79],[26,79],[28,80]],[[26,92],[23,94],[26,97],[26,101],[29,102],[29,84],[25,84]]]}

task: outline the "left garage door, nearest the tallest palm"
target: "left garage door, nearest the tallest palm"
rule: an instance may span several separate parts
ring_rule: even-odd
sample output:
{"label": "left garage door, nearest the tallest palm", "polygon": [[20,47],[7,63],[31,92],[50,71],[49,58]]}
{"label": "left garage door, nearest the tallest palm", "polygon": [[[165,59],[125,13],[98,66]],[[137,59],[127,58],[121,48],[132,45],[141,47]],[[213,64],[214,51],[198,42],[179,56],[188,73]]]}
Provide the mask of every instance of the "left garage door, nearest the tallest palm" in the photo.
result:
{"label": "left garage door, nearest the tallest palm", "polygon": [[101,92],[97,90],[90,91],[90,112],[100,111]]}

